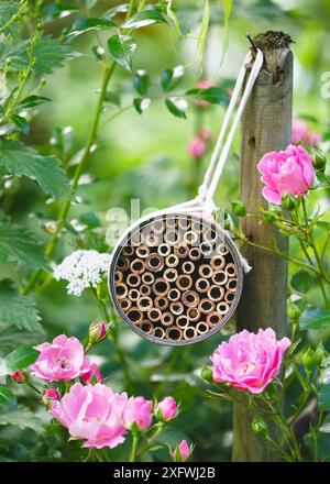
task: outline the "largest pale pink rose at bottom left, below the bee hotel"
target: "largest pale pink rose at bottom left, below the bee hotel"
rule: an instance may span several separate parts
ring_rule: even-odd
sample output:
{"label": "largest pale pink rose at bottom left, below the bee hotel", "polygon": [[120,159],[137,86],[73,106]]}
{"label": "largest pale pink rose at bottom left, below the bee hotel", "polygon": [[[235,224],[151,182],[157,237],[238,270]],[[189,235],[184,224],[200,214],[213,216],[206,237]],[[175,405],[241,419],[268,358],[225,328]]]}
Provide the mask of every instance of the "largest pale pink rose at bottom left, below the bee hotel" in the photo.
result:
{"label": "largest pale pink rose at bottom left, below the bee hotel", "polygon": [[50,413],[73,438],[86,440],[82,447],[113,449],[124,441],[127,402],[127,394],[118,395],[106,385],[75,383],[61,402],[53,403]]}

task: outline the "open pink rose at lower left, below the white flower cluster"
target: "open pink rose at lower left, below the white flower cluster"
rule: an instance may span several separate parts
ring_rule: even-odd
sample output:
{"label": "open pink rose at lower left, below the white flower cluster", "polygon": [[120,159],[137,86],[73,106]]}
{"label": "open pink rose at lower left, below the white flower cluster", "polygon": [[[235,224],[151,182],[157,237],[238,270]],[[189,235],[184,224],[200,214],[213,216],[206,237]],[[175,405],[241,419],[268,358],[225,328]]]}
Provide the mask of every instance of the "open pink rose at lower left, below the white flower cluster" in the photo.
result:
{"label": "open pink rose at lower left, below the white flower cluster", "polygon": [[61,334],[52,343],[42,343],[35,349],[40,355],[30,370],[37,378],[46,382],[69,381],[89,372],[84,346],[77,338]]}

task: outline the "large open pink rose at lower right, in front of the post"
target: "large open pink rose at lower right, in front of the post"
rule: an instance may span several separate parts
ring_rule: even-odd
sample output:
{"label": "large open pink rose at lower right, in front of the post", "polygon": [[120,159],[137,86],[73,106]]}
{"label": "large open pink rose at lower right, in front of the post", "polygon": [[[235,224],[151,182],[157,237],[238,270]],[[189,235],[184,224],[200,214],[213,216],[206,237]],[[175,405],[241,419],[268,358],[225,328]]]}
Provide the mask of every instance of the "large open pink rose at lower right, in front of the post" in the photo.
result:
{"label": "large open pink rose at lower right, in front of the post", "polygon": [[212,354],[213,381],[260,394],[278,375],[283,353],[290,344],[288,338],[277,341],[272,328],[256,334],[243,330]]}

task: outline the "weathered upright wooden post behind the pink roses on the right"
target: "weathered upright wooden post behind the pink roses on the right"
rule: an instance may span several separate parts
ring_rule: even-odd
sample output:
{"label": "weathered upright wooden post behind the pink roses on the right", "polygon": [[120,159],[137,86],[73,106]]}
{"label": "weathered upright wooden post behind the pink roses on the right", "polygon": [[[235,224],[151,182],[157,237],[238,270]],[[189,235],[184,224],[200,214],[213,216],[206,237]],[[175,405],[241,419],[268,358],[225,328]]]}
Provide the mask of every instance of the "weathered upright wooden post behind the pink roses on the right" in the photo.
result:
{"label": "weathered upright wooden post behind the pink roses on the right", "polygon": [[[241,200],[249,213],[267,207],[262,196],[263,184],[256,165],[262,156],[285,148],[292,141],[293,55],[290,38],[283,32],[266,32],[253,42],[265,56],[264,67],[256,80],[242,119]],[[287,238],[254,219],[242,219],[245,235],[261,245],[271,246],[275,237],[278,248],[288,250]],[[287,297],[287,263],[249,244],[243,254],[252,265],[245,276],[238,309],[238,330],[256,332],[273,328],[278,337],[285,331]],[[253,415],[245,407],[234,407],[234,461],[276,460],[264,438],[253,433]],[[278,459],[278,458],[277,458]]]}

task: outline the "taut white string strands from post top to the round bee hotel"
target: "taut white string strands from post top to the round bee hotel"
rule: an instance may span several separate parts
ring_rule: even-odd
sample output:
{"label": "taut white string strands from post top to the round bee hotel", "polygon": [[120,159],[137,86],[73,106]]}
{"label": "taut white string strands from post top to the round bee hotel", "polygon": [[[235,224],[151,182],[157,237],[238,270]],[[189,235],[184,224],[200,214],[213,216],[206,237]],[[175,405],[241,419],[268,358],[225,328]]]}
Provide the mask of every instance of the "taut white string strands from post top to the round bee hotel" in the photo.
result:
{"label": "taut white string strands from post top to the round bee hotel", "polygon": [[[263,65],[263,54],[262,54],[262,52],[260,50],[257,50],[257,54],[256,54],[253,67],[251,69],[251,73],[250,73],[250,76],[249,76],[249,80],[246,82],[243,96],[241,98],[237,116],[235,116],[235,118],[234,118],[234,120],[232,122],[231,129],[229,131],[228,138],[227,138],[226,143],[224,143],[224,146],[223,146],[223,148],[221,151],[222,143],[223,143],[224,136],[227,134],[228,127],[230,124],[230,119],[232,117],[233,110],[235,108],[235,105],[237,105],[239,96],[240,96],[241,88],[242,88],[244,79],[245,79],[245,74],[246,74],[246,66],[245,65],[248,63],[250,63],[251,59],[252,59],[252,55],[251,55],[251,53],[249,53],[245,56],[245,58],[243,61],[243,64],[242,64],[242,67],[240,69],[240,73],[239,73],[239,76],[238,76],[238,80],[237,80],[234,90],[232,92],[231,101],[230,101],[230,103],[228,106],[228,109],[227,109],[227,112],[226,112],[226,116],[224,116],[224,119],[223,119],[223,123],[222,123],[222,127],[221,127],[221,130],[220,130],[220,134],[219,134],[219,138],[217,140],[216,147],[215,147],[215,151],[212,153],[212,156],[211,156],[211,160],[210,160],[207,173],[206,173],[205,178],[204,178],[204,183],[199,187],[199,190],[198,190],[198,195],[199,195],[198,198],[205,200],[205,202],[209,204],[209,205],[213,205],[213,195],[215,195],[215,191],[217,189],[217,185],[219,183],[219,179],[221,177],[221,174],[222,174],[222,170],[223,170],[223,166],[224,166],[226,161],[228,158],[228,154],[229,154],[229,151],[230,151],[230,147],[231,147],[231,144],[232,144],[232,141],[233,141],[233,138],[234,138],[238,124],[240,122],[241,116],[243,113],[243,110],[244,110],[245,105],[248,102],[249,96],[250,96],[250,94],[252,91],[252,88],[254,86],[254,82],[255,82],[255,80],[257,78],[257,75],[258,75],[258,73],[260,73],[260,70],[262,68],[262,65]],[[221,152],[221,154],[220,154],[220,152]],[[213,176],[212,176],[212,174],[213,174]]]}

